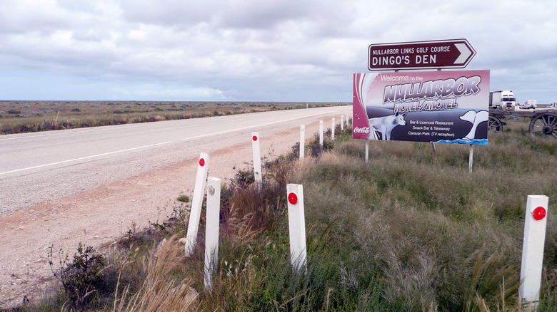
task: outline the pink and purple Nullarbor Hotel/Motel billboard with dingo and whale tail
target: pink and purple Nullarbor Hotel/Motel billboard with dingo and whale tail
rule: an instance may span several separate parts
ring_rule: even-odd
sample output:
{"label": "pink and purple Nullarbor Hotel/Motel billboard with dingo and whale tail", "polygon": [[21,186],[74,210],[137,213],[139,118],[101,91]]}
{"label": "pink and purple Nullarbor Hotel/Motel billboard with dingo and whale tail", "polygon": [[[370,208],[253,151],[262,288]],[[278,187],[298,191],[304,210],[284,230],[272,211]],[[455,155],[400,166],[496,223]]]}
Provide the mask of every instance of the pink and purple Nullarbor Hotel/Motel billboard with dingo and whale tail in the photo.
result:
{"label": "pink and purple Nullarbor Hotel/Motel billboard with dingo and whale tail", "polygon": [[353,135],[487,145],[489,71],[355,73]]}

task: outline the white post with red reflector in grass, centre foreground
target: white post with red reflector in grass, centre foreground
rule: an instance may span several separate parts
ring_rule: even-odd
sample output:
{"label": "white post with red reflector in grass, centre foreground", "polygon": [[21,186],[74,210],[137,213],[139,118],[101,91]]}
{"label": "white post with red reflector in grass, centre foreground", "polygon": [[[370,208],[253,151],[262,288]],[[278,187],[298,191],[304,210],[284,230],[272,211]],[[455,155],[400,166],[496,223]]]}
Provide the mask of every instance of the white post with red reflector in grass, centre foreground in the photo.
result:
{"label": "white post with red reflector in grass, centre foreground", "polygon": [[288,230],[290,232],[290,262],[293,271],[307,271],[306,217],[303,212],[303,186],[287,184]]}

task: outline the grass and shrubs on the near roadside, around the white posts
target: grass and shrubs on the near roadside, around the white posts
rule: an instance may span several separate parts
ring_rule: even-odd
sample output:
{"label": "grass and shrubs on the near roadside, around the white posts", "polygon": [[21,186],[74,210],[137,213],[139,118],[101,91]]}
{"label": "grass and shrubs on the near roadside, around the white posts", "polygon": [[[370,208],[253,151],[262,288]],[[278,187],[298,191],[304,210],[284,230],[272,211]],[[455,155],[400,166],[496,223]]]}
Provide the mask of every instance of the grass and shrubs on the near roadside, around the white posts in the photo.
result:
{"label": "grass and shrubs on the near roadside, around the white posts", "polygon": [[[261,191],[251,168],[222,187],[211,290],[204,212],[186,259],[189,203],[176,201],[167,221],[99,251],[52,251],[59,295],[13,311],[523,311],[528,194],[550,197],[537,311],[557,311],[557,140],[506,122],[476,147],[472,174],[467,146],[371,141],[366,163],[365,142],[337,128],[324,151],[309,142],[303,161],[296,146],[267,160]],[[287,183],[303,184],[306,274],[289,262]]]}

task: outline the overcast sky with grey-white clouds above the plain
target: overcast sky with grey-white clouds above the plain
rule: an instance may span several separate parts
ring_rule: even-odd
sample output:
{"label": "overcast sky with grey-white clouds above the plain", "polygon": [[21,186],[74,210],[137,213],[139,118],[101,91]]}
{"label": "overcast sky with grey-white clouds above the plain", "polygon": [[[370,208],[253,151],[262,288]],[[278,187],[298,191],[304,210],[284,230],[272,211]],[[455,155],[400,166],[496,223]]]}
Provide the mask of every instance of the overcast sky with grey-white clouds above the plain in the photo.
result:
{"label": "overcast sky with grey-white clouds above the plain", "polygon": [[557,101],[557,1],[1,0],[0,100],[352,102],[368,46],[466,38]]}

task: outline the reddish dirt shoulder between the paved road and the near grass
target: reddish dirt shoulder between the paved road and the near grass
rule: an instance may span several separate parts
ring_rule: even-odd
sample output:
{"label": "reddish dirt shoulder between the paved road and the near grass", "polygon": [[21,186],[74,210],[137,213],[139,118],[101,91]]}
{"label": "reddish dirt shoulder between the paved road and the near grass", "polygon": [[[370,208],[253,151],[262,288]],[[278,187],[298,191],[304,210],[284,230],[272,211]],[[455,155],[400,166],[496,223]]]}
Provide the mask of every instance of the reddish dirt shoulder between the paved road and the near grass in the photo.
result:
{"label": "reddish dirt shoulder between the paved road and the near grass", "polygon": [[[306,140],[317,131],[318,123],[306,125]],[[261,155],[281,155],[298,140],[298,129],[264,137]],[[250,156],[251,142],[213,152],[209,175],[226,181],[251,162]],[[17,306],[24,297],[39,301],[56,288],[47,261],[51,246],[54,251],[63,249],[73,255],[79,242],[98,247],[115,241],[132,227],[141,229],[149,221],[164,221],[180,194],[193,194],[196,170],[197,159],[184,160],[1,216],[0,307]]]}

